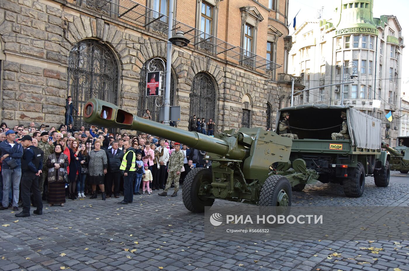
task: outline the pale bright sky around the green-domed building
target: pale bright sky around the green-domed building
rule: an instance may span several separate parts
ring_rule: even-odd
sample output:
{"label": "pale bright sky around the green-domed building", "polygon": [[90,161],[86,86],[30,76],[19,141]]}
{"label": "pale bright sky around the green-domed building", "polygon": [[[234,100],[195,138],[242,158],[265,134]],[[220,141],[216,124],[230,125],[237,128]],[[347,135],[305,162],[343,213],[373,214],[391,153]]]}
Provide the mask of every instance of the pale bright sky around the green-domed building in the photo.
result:
{"label": "pale bright sky around the green-domed building", "polygon": [[[288,9],[288,22],[290,23],[294,16],[297,15],[297,27],[301,26],[303,22],[308,19],[315,19],[317,17],[317,11],[324,6],[324,11],[322,13],[323,19],[331,18],[333,14],[333,8],[335,5],[333,4],[335,1],[340,0],[333,0],[333,1],[322,1],[322,0],[289,0],[289,9]],[[393,15],[396,16],[400,27],[402,27],[402,37],[404,38],[403,43],[406,47],[403,49],[402,52],[402,59],[400,65],[402,66],[402,74],[400,77],[402,78],[402,90],[406,87],[409,87],[409,63],[407,63],[407,59],[409,59],[409,16],[407,11],[409,10],[409,1],[408,0],[388,0],[388,4],[385,4],[385,1],[381,0],[373,0],[373,17],[380,18],[381,15]],[[331,3],[325,5],[326,3]],[[292,22],[289,27],[290,35],[294,32],[294,28],[292,28]],[[406,36],[406,38],[405,38]],[[409,92],[409,91],[408,91]]]}

